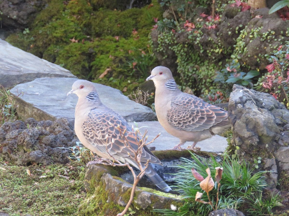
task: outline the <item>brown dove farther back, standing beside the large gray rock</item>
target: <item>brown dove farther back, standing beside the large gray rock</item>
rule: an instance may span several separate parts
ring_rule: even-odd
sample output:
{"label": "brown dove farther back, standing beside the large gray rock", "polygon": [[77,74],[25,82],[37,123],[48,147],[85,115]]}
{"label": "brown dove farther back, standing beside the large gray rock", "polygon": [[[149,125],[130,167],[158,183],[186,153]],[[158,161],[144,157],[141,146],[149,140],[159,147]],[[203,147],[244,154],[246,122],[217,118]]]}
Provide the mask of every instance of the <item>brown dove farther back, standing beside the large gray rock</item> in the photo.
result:
{"label": "brown dove farther back, standing beside the large gray rock", "polygon": [[179,144],[172,149],[193,141],[190,148],[193,150],[197,142],[231,127],[227,111],[181,92],[167,67],[155,67],[146,80],[150,79],[155,84],[155,112],[158,121],[168,133],[180,139]]}

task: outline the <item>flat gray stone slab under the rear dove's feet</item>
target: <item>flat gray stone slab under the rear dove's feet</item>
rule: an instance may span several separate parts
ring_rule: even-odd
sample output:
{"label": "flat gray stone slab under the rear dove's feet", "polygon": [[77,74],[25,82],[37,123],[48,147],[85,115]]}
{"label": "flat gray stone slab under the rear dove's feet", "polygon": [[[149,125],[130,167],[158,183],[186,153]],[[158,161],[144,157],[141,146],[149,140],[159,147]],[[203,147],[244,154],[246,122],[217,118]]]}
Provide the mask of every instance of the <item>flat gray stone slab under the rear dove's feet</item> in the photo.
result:
{"label": "flat gray stone slab under the rear dove's feet", "polygon": [[[159,133],[161,133],[160,137],[148,145],[148,147],[154,146],[155,150],[166,150],[179,144],[179,139],[166,132],[166,130],[157,121],[136,123],[131,122],[129,124],[133,125],[134,128],[138,127],[142,134],[145,130],[147,130],[148,142],[155,138]],[[193,142],[186,142],[184,145],[182,145],[182,148],[186,148],[188,145],[192,144]],[[201,151],[224,152],[226,147],[228,147],[228,142],[227,138],[215,135],[210,139],[205,139],[198,142],[196,147],[200,147]]]}

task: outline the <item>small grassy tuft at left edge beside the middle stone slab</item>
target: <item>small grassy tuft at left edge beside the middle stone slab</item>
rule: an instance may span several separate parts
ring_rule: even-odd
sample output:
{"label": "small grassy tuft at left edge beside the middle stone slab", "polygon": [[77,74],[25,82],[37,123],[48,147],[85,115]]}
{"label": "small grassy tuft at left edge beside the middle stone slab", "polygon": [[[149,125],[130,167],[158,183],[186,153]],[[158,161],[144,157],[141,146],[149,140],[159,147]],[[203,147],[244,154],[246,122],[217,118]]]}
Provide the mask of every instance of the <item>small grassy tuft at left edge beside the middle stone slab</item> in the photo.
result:
{"label": "small grassy tuft at left edge beside the middle stone slab", "polygon": [[[11,98],[12,100],[10,100]],[[14,106],[15,98],[16,97],[10,93],[10,90],[0,85],[0,126],[4,124],[4,122],[12,122],[17,118]]]}

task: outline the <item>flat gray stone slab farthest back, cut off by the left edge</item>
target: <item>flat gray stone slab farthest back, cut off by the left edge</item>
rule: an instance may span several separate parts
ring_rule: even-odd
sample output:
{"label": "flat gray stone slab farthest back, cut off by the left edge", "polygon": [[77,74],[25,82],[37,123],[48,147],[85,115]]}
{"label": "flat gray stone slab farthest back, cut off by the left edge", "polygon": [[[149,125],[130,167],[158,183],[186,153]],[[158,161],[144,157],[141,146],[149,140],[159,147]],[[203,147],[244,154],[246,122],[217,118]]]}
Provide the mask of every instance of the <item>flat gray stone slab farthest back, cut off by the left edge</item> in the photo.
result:
{"label": "flat gray stone slab farthest back, cut off by the left edge", "polygon": [[0,39],[0,85],[4,88],[40,77],[74,77],[70,71]]}

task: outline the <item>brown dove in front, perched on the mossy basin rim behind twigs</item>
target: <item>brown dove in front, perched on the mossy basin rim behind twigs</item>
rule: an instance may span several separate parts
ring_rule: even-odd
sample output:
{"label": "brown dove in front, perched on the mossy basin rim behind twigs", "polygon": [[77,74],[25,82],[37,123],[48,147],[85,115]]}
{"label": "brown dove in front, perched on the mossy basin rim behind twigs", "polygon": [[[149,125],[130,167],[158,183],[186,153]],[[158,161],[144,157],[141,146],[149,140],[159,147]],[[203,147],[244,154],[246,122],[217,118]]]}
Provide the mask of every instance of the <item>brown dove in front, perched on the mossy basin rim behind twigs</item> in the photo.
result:
{"label": "brown dove in front, perched on the mossy basin rim behind twigs", "polygon": [[[125,141],[121,138],[120,131],[117,128],[119,126],[122,132],[126,130],[124,136],[127,138],[129,145],[134,150],[138,149],[138,137],[125,119],[101,103],[95,86],[89,81],[81,79],[75,81],[72,90],[67,95],[72,93],[78,96],[74,127],[79,141],[103,158],[113,160],[110,157],[111,155],[123,163],[128,162],[138,168],[136,161],[129,156],[133,155],[133,152],[125,145]],[[109,149],[110,155],[107,149]],[[153,164],[161,164],[149,148],[144,146],[140,158],[143,168],[148,160]],[[151,164],[148,165],[145,174],[160,189],[166,192],[171,190],[155,172]]]}

